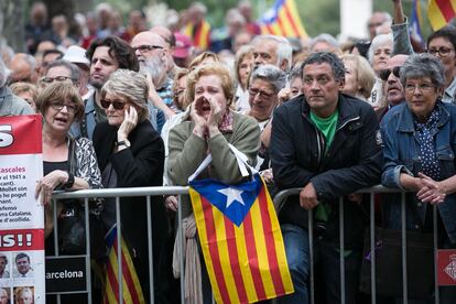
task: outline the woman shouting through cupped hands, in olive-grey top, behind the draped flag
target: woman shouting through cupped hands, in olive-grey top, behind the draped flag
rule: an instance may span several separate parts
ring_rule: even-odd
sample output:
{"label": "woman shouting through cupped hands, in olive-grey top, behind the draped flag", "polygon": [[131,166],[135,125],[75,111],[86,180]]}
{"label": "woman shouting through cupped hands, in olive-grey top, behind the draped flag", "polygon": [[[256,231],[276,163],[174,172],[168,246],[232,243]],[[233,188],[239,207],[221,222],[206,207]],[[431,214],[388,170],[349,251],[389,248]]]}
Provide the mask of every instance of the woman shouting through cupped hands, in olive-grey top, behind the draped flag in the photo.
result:
{"label": "woman shouting through cupped hands, in olive-grey top, behind the draped flag", "polygon": [[[234,112],[230,109],[235,86],[228,67],[214,63],[203,65],[193,70],[187,80],[187,100],[193,100],[189,113],[183,122],[170,131],[169,139],[169,177],[175,185],[188,185],[189,176],[198,169],[208,154],[211,155],[211,164],[197,175],[197,178],[214,178],[225,184],[240,183],[245,177],[238,167],[237,158],[231,152],[229,144],[234,145],[247,155],[248,162],[254,164],[257,152],[260,148],[260,129],[257,121],[248,116]],[[183,217],[192,215],[191,203],[187,197],[182,199]],[[192,218],[192,217],[189,217]],[[185,222],[191,220],[185,219]],[[185,229],[184,224],[184,229]],[[187,225],[193,226],[194,225]],[[195,241],[195,234],[188,241]],[[193,243],[194,245],[194,243]],[[187,249],[188,252],[188,249]],[[189,259],[198,259],[197,251]],[[199,263],[199,260],[196,261]],[[175,264],[173,268],[175,271]],[[193,264],[193,263],[192,263]],[[196,270],[200,272],[200,270]],[[210,303],[210,289],[205,271],[197,278],[203,279],[203,292],[196,286],[195,294],[191,295],[191,303]],[[186,271],[186,275],[189,275]],[[200,281],[199,281],[200,282]],[[187,285],[186,290],[195,291],[195,284]],[[203,295],[204,293],[204,295]],[[196,301],[196,302],[193,302]]]}

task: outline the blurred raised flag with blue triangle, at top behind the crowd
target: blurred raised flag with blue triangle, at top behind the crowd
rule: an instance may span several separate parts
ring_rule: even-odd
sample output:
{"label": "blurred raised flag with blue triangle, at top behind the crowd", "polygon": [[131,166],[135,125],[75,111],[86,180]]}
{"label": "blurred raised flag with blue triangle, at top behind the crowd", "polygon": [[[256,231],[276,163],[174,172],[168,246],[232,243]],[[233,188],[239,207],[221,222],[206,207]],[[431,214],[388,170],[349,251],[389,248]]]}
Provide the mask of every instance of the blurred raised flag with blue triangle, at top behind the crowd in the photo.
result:
{"label": "blurred raised flag with blue triangle, at top behind the crowd", "polygon": [[307,37],[294,0],[276,0],[261,18],[261,32],[278,36]]}

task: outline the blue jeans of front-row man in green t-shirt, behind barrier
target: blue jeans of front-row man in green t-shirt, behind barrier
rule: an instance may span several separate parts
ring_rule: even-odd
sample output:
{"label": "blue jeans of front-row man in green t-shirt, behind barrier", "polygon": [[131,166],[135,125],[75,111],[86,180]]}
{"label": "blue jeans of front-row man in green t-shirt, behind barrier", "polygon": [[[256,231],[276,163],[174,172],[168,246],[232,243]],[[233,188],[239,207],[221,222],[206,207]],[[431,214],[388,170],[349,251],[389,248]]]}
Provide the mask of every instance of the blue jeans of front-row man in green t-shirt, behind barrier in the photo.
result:
{"label": "blue jeans of front-row man in green t-shirt, behind barrier", "polygon": [[[289,262],[294,293],[278,298],[278,303],[310,303],[310,256],[308,256],[308,232],[298,226],[284,224],[281,226],[283,241],[285,243],[286,260]],[[340,262],[339,251],[317,236],[314,238],[314,262],[315,273],[322,273],[322,284],[325,289],[324,300],[316,303],[340,303]],[[359,271],[361,267],[361,251],[351,250],[345,258],[345,297],[346,303],[356,303],[356,295],[359,285]]]}

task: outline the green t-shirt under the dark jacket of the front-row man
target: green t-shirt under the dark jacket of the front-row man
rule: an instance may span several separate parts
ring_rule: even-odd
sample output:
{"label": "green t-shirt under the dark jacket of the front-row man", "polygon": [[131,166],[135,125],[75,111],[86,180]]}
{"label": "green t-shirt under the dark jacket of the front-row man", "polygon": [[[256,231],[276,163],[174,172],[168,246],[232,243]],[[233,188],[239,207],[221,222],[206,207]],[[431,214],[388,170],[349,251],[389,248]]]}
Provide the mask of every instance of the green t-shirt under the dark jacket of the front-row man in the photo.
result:
{"label": "green t-shirt under the dark jacket of the front-row man", "polygon": [[[329,145],[333,142],[334,135],[336,134],[336,126],[337,126],[338,117],[339,117],[339,111],[337,109],[328,118],[321,118],[311,111],[311,120],[316,124],[317,129],[325,135],[325,141],[326,141],[325,153],[328,152]],[[332,211],[332,207],[329,204],[321,203],[315,208],[315,218],[317,220],[327,221],[329,218],[330,211]]]}

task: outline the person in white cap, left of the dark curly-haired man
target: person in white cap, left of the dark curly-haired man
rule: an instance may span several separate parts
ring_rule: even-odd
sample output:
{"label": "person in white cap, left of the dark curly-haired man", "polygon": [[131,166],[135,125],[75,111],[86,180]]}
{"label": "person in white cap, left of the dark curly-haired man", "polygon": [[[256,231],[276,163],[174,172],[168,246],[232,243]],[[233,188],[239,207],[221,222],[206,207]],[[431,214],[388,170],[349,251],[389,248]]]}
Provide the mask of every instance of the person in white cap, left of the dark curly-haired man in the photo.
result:
{"label": "person in white cap, left of the dark curly-haired man", "polygon": [[79,68],[79,94],[83,100],[87,99],[93,94],[94,88],[88,86],[90,62],[86,57],[86,50],[72,45],[66,50],[63,59],[75,64]]}

